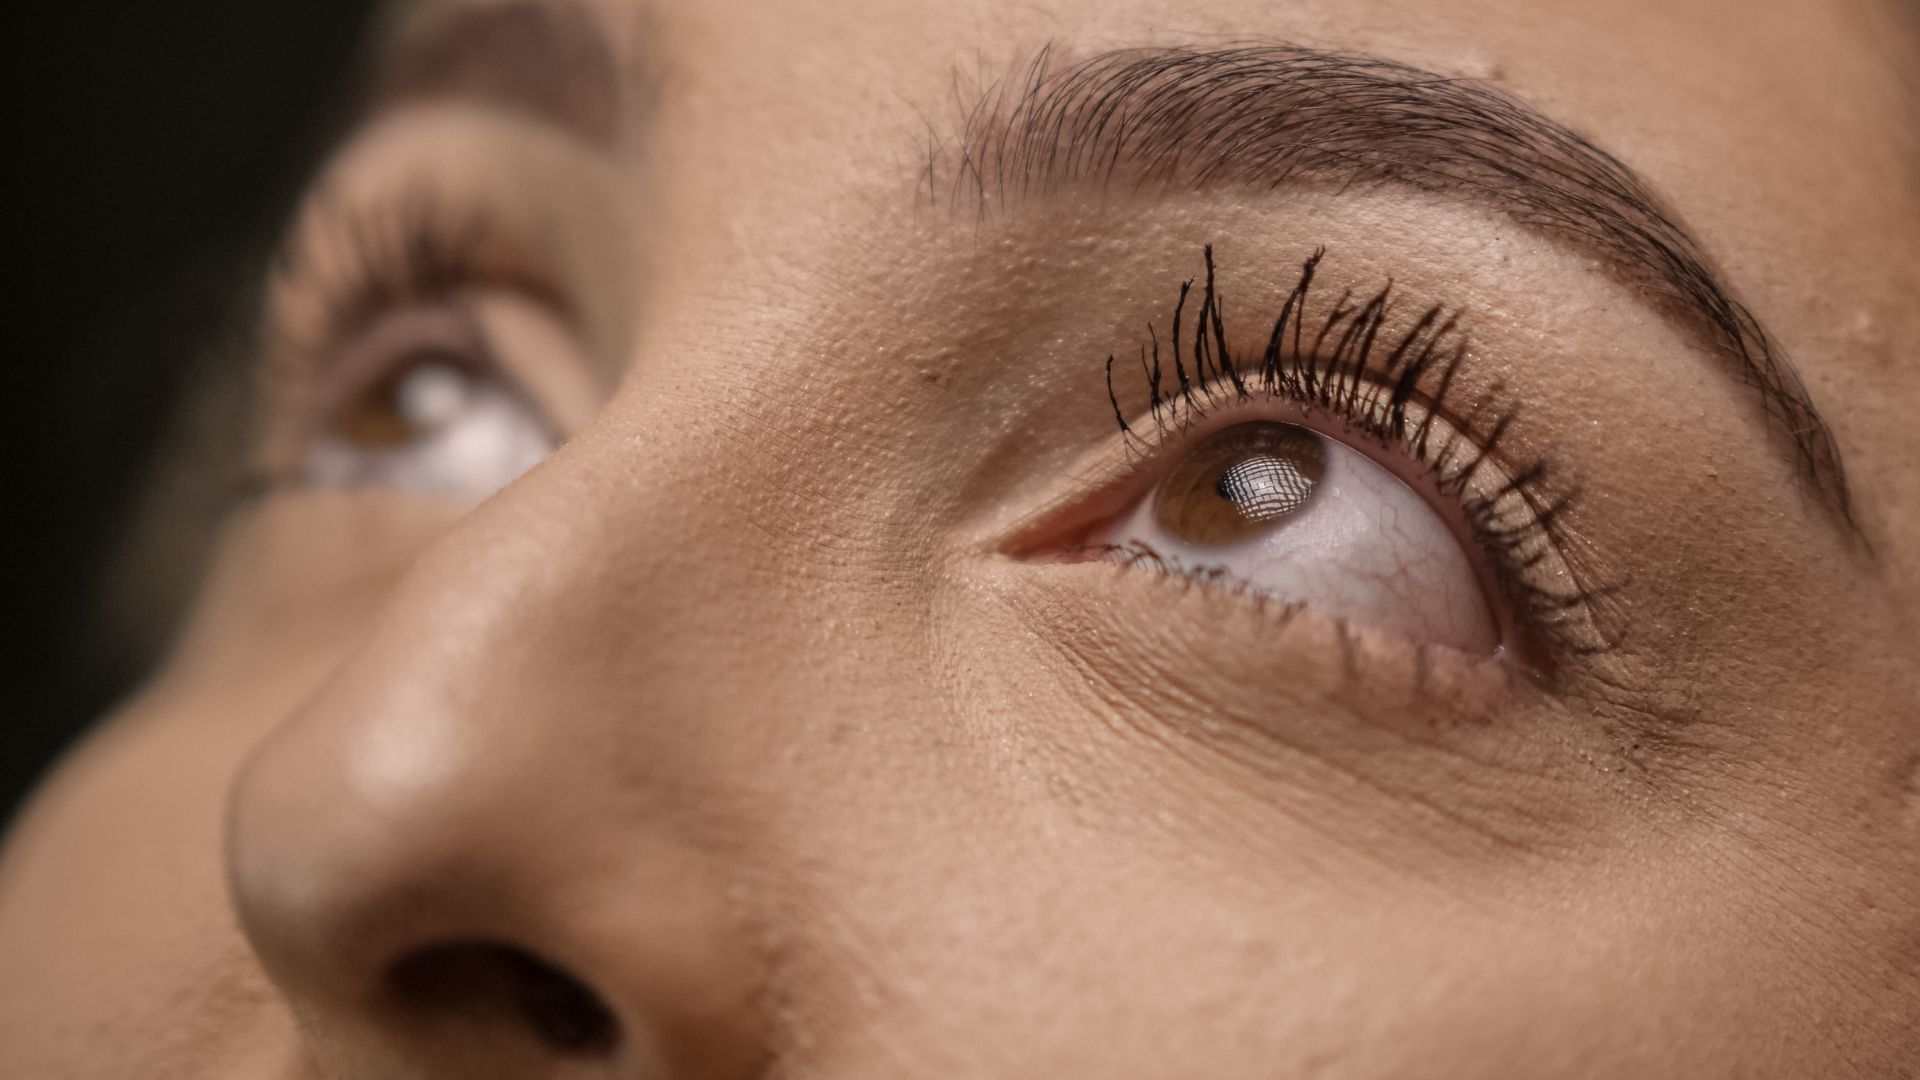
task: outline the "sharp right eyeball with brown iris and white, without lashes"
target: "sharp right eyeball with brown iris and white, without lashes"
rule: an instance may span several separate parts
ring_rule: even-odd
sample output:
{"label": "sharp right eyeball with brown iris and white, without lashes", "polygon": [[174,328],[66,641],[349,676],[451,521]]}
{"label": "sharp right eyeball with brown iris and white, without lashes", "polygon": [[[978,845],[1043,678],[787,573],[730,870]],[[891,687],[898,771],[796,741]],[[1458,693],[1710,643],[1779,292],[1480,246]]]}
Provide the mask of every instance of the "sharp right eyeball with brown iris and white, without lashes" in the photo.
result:
{"label": "sharp right eyeball with brown iris and white, without lashes", "polygon": [[1473,653],[1501,644],[1473,559],[1427,500],[1371,457],[1288,423],[1198,440],[1091,544],[1223,573],[1415,642]]}

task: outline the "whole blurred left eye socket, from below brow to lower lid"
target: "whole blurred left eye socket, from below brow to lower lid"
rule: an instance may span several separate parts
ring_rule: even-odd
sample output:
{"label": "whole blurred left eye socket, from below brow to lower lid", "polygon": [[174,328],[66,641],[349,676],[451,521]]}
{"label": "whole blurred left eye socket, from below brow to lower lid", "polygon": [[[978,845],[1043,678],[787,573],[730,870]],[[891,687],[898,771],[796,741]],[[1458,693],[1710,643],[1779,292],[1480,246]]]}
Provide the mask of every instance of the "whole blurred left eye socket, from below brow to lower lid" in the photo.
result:
{"label": "whole blurred left eye socket, from below brow to lower lid", "polygon": [[470,106],[348,142],[263,281],[255,486],[472,500],[591,423],[628,356],[618,181],[601,150]]}

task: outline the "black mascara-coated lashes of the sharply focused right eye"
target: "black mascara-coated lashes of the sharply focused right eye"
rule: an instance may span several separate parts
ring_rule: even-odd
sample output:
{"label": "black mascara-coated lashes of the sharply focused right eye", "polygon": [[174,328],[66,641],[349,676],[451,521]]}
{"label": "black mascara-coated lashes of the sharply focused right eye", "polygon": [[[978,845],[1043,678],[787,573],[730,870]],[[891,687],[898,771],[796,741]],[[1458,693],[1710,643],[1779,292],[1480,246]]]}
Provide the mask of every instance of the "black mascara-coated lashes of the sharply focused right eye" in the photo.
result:
{"label": "black mascara-coated lashes of the sharply focused right eye", "polygon": [[[1496,465],[1501,440],[1515,421],[1517,409],[1511,404],[1496,404],[1492,396],[1484,396],[1465,411],[1450,407],[1457,396],[1455,375],[1469,356],[1459,313],[1432,306],[1392,340],[1382,338],[1394,296],[1388,281],[1359,306],[1354,304],[1352,290],[1342,292],[1319,329],[1308,334],[1308,300],[1325,254],[1325,248],[1315,248],[1302,263],[1300,279],[1273,319],[1263,352],[1256,363],[1242,367],[1227,344],[1231,334],[1221,315],[1213,246],[1208,244],[1190,352],[1183,352],[1183,317],[1192,279],[1181,282],[1173,306],[1167,342],[1171,373],[1164,367],[1160,334],[1152,325],[1148,342],[1140,346],[1150,432],[1127,421],[1114,386],[1116,357],[1106,359],[1108,404],[1129,448],[1160,455],[1213,409],[1258,400],[1286,400],[1308,415],[1332,417],[1346,430],[1363,432],[1398,452],[1423,469],[1440,494],[1455,500],[1496,586],[1528,630],[1574,655],[1613,648],[1613,634],[1592,626],[1594,601],[1611,588],[1592,584],[1584,580],[1586,575],[1576,573],[1561,527],[1574,492],[1559,484],[1557,471],[1546,461],[1536,459],[1513,471]],[[1407,415],[1415,402],[1425,411],[1419,419]],[[1450,423],[1436,427],[1436,417]],[[1486,484],[1488,479],[1498,482]],[[1486,490],[1475,490],[1482,486]],[[1555,553],[1569,569],[1571,584],[1565,588],[1546,584],[1530,573]],[[1171,563],[1139,544],[1108,555],[1123,565],[1171,567],[1173,573],[1202,580],[1219,577],[1204,567]]]}

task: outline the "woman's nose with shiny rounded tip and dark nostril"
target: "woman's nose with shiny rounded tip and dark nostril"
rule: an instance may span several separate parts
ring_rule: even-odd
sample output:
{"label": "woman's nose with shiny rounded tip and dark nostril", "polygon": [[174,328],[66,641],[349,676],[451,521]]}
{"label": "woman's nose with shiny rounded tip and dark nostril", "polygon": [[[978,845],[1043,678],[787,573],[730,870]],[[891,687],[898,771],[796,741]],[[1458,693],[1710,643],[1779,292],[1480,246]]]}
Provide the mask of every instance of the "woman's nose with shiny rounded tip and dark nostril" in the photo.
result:
{"label": "woman's nose with shiny rounded tip and dark nostril", "polygon": [[[605,613],[524,523],[493,542],[526,507],[490,509],[244,769],[240,922],[326,1076],[751,1072],[726,869],[668,796],[693,755],[601,705]],[[643,746],[620,769],[612,724]]]}

